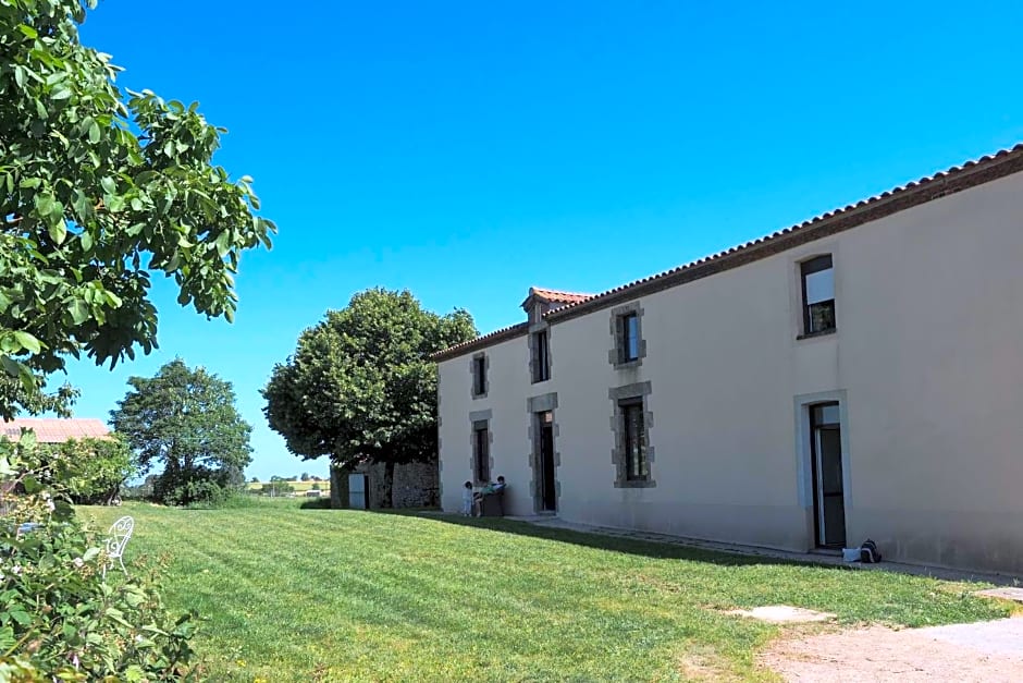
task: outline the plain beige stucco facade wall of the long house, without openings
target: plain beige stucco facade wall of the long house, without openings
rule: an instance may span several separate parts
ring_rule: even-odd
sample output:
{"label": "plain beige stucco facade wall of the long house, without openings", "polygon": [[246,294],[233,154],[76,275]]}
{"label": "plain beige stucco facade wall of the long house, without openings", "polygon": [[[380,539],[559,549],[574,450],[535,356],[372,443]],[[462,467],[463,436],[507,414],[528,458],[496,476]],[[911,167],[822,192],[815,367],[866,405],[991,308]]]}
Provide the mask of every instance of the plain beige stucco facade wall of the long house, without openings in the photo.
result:
{"label": "plain beige stucco facade wall of the long house, without openings", "polygon": [[[830,253],[838,332],[797,340],[798,264]],[[552,379],[526,337],[440,364],[443,504],[470,475],[469,412],[491,408],[493,473],[532,512],[530,395],[558,394],[568,521],[806,550],[801,403],[841,397],[849,544],[891,559],[1023,573],[1023,174],[638,300],[648,352],[616,370],[611,309],[551,328]],[[608,389],[650,381],[656,487],[614,487]]]}

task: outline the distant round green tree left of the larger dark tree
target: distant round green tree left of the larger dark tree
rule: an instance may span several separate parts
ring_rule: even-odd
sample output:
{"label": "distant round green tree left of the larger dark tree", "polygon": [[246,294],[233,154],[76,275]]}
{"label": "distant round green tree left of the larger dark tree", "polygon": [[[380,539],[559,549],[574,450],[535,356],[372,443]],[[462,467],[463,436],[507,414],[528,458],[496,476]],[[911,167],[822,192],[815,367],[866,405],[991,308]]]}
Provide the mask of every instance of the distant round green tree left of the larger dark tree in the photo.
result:
{"label": "distant round green tree left of the larger dark tree", "polygon": [[153,490],[158,500],[214,503],[244,483],[252,428],[235,407],[231,382],[176,358],[128,385],[110,416],[143,472],[163,465]]}

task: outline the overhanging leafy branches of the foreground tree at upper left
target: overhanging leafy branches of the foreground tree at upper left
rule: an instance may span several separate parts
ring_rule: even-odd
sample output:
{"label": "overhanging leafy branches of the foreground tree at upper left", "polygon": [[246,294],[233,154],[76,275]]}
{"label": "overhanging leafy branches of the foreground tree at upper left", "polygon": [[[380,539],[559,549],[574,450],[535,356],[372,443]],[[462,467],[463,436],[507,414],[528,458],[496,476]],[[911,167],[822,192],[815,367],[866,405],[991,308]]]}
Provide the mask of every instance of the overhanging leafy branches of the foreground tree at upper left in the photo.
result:
{"label": "overhanging leafy branches of the foreground tree at upper left", "polygon": [[122,92],[83,46],[96,0],[0,2],[0,418],[65,412],[46,378],[86,354],[157,345],[150,279],[231,320],[243,251],[270,246],[250,179],[212,164],[223,129],[196,105]]}

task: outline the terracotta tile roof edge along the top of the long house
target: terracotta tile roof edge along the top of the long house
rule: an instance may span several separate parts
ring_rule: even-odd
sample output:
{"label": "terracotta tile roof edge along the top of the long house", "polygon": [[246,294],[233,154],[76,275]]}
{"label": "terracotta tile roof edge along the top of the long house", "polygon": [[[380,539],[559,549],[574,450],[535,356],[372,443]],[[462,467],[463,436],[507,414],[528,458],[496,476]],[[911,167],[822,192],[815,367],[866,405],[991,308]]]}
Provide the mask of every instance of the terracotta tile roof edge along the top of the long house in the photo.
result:
{"label": "terracotta tile roof edge along the top of the long house", "polygon": [[[784,252],[786,249],[818,240],[863,223],[878,220],[913,206],[925,204],[933,199],[944,197],[956,192],[983,185],[999,178],[1023,171],[1023,144],[1011,149],[1001,149],[995,155],[985,155],[975,161],[965,161],[953,166],[946,171],[939,171],[933,176],[923,176],[904,185],[861,199],[841,209],[827,211],[821,216],[805,220],[757,237],[744,244],[730,247],[711,256],[665,270],[663,272],[634,280],[609,289],[600,294],[578,294],[578,301],[565,302],[564,306],[553,308],[544,314],[544,318],[552,321],[574,318],[612,306],[615,303],[657,292],[686,282],[736,268],[759,258]],[[934,191],[930,185],[937,185]],[[537,288],[533,288],[537,289]],[[541,290],[552,291],[553,290]],[[560,294],[569,294],[560,292]],[[497,341],[504,341],[528,332],[529,326],[525,322],[484,334],[470,342],[464,342],[431,356],[435,361],[457,357],[469,351],[488,346]]]}

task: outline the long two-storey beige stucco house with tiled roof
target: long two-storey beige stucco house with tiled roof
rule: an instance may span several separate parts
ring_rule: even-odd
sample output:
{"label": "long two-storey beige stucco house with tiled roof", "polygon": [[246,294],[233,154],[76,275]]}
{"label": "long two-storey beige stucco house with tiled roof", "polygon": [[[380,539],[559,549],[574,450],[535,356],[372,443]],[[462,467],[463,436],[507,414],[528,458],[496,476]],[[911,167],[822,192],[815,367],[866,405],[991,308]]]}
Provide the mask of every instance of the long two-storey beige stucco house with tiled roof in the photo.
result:
{"label": "long two-storey beige stucco house with tiled roof", "polygon": [[1023,145],[437,354],[442,504],[1023,574]]}

